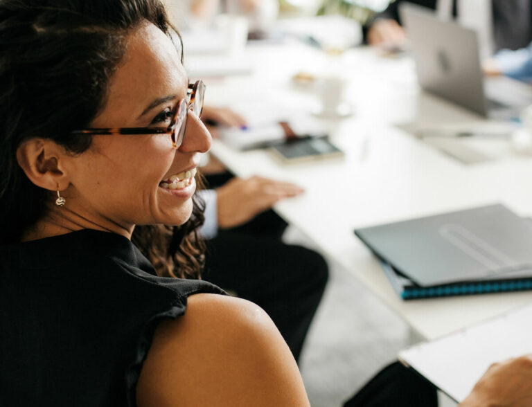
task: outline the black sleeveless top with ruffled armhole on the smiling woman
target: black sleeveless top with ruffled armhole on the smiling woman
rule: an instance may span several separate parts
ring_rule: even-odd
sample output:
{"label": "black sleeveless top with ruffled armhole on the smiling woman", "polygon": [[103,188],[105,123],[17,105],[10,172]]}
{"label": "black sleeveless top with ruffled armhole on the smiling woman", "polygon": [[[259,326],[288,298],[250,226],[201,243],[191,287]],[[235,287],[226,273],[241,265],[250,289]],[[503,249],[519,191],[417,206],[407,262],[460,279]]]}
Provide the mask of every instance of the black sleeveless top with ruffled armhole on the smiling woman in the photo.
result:
{"label": "black sleeveless top with ruffled armhole on the smiling woman", "polygon": [[157,277],[114,233],[0,246],[0,405],[136,406],[154,328],[193,293],[223,291]]}

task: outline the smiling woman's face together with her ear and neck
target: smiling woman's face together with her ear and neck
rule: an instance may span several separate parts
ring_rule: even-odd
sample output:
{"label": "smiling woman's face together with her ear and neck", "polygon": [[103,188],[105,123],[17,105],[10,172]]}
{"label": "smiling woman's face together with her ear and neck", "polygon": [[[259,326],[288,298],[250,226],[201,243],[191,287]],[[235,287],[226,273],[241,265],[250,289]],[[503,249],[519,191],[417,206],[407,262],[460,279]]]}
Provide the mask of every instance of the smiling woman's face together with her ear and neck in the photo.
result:
{"label": "smiling woman's face together with her ear and neck", "polygon": [[[210,147],[209,133],[194,114],[188,127],[197,127],[189,129],[196,135],[184,139],[188,81],[179,54],[170,38],[148,22],[127,37],[125,53],[127,59],[109,81],[105,108],[89,129],[70,132],[93,134],[87,152],[69,154],[44,135],[19,145],[17,159],[26,177],[37,187],[57,188],[68,202],[64,209],[52,206],[23,239],[89,226],[129,238],[135,225],[181,225],[190,217],[193,179],[186,188],[161,186],[175,174],[194,170],[197,153]],[[136,130],[136,137],[124,130],[107,136],[101,130],[119,125]],[[142,172],[139,163],[148,163]],[[124,188],[130,179],[135,188]]]}

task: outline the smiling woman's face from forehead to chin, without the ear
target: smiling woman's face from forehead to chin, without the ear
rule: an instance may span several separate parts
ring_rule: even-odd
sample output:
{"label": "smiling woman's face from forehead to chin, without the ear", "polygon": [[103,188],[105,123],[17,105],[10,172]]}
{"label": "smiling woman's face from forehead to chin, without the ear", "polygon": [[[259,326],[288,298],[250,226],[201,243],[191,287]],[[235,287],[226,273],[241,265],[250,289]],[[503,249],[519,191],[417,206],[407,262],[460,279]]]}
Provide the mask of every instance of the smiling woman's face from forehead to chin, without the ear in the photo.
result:
{"label": "smiling woman's face from forehead to chin, without the ear", "polygon": [[[91,127],[166,127],[187,88],[174,44],[159,28],[145,24],[130,35],[109,83],[107,105]],[[166,134],[94,136],[89,150],[68,163],[64,208],[98,226],[129,233],[135,224],[183,224],[192,212],[199,152],[210,146],[209,132],[190,113],[177,150]],[[176,177],[185,181],[171,185]]]}

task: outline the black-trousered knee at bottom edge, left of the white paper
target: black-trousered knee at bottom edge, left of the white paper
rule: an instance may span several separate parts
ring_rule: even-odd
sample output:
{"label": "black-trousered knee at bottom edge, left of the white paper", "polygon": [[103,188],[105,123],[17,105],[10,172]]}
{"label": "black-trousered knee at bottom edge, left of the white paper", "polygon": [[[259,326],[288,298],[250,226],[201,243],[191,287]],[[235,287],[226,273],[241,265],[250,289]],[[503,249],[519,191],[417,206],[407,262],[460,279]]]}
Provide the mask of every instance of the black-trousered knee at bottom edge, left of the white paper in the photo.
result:
{"label": "black-trousered knee at bottom edge, left of the white paper", "polygon": [[399,362],[381,370],[344,407],[437,407],[432,384]]}

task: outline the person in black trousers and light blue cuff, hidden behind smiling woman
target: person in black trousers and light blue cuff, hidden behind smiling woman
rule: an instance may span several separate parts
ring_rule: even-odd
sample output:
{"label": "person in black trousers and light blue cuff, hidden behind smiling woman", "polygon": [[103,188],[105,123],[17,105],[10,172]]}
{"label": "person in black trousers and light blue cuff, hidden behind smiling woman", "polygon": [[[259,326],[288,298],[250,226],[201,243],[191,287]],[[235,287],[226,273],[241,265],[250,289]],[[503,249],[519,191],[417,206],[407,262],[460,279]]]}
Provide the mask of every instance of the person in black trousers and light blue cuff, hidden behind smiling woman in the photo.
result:
{"label": "person in black trousers and light blue cuff, hidden behind smiling woman", "polygon": [[[202,120],[245,125],[245,119],[234,111],[219,107],[206,106]],[[217,134],[215,126],[208,128]],[[315,251],[283,243],[287,223],[271,208],[303,190],[293,183],[263,177],[240,179],[223,167],[218,172],[210,168],[207,185],[215,189],[200,192],[206,202],[201,232],[207,238],[202,277],[264,309],[299,362],[327,284],[328,266]],[[240,248],[238,255],[235,247]]]}

